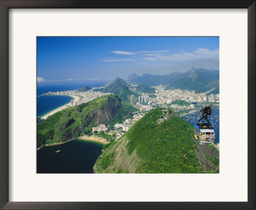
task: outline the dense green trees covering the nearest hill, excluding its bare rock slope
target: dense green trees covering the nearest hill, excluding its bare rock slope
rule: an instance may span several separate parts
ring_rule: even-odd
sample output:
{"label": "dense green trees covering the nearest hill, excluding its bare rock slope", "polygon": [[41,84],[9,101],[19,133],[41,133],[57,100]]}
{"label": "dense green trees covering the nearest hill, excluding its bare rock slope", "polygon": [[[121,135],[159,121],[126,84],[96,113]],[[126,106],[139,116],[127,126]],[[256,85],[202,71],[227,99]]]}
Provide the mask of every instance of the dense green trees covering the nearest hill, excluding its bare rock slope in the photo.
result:
{"label": "dense green trees covering the nearest hill, excluding its bare rock slope", "polygon": [[127,153],[141,159],[139,173],[198,173],[193,128],[180,117],[157,124],[161,109],[148,112],[125,134]]}

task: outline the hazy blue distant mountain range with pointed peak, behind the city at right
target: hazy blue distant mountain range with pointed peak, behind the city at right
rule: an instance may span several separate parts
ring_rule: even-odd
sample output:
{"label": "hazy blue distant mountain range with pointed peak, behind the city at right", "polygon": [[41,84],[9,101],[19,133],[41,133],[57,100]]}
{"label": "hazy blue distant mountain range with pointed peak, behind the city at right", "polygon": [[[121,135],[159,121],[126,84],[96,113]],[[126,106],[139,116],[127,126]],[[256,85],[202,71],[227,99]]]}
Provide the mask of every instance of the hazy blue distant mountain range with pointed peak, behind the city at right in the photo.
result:
{"label": "hazy blue distant mountain range with pointed peak, behind the city at right", "polygon": [[[148,86],[166,86],[166,89],[194,90],[196,93],[203,93],[212,89],[212,93],[219,92],[219,71],[206,70],[204,68],[191,68],[185,73],[171,73],[170,75],[150,75],[141,76],[133,73],[129,76],[129,82],[147,84]],[[211,93],[210,93],[211,94]]]}

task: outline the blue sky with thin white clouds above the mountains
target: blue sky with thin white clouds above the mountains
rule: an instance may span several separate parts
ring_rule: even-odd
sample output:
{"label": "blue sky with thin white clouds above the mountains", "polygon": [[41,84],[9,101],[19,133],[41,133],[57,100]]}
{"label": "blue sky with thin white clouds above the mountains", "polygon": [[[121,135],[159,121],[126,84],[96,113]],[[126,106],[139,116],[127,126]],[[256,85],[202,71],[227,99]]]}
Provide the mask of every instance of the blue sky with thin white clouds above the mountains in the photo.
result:
{"label": "blue sky with thin white clouds above the mountains", "polygon": [[127,79],[191,67],[219,70],[218,37],[38,37],[37,80]]}

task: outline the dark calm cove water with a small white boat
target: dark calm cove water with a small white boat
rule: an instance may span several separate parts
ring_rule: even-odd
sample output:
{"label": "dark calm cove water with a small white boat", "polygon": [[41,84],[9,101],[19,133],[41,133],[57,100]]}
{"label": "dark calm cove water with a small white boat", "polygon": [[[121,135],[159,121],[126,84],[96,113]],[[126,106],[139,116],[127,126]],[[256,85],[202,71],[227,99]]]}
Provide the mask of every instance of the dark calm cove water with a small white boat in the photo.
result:
{"label": "dark calm cove water with a small white boat", "polygon": [[[37,151],[38,174],[90,174],[103,144],[72,140],[65,144],[43,147]],[[56,151],[60,150],[59,153]]]}

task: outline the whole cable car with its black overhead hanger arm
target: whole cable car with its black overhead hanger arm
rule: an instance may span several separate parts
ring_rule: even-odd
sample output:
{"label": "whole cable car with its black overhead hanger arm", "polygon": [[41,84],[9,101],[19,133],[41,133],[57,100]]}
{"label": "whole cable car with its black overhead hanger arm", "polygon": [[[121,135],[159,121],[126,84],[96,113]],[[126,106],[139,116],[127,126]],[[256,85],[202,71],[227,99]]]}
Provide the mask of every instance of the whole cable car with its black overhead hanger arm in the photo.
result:
{"label": "whole cable car with its black overhead hanger arm", "polygon": [[200,143],[213,143],[215,140],[215,132],[208,119],[208,116],[212,114],[211,107],[203,107],[201,114],[202,117],[195,124],[195,138]]}

